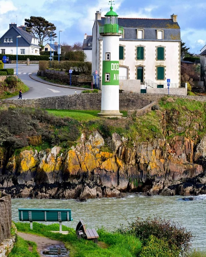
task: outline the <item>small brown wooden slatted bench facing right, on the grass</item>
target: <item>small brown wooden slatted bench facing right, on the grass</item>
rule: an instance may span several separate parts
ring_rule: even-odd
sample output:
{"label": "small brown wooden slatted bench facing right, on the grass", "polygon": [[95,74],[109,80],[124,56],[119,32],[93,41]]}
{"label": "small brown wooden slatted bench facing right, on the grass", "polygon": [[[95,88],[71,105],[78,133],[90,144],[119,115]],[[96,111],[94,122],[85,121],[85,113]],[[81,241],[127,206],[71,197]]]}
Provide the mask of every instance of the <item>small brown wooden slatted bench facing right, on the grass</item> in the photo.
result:
{"label": "small brown wooden slatted bench facing right, on the grass", "polygon": [[96,229],[86,229],[82,219],[80,219],[79,223],[77,224],[76,235],[79,239],[85,238],[88,240],[94,240],[94,243],[97,243],[99,238]]}

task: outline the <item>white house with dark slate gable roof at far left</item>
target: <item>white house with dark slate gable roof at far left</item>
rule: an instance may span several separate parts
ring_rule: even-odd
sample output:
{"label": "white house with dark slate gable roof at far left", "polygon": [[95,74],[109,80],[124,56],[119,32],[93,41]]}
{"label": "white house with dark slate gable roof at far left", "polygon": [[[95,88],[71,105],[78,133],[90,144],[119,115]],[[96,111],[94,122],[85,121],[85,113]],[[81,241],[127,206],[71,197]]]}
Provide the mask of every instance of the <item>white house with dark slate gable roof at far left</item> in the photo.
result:
{"label": "white house with dark slate gable roof at far left", "polygon": [[26,32],[25,26],[9,24],[9,30],[0,38],[0,53],[16,55],[16,37],[18,38],[18,55],[40,55],[39,39]]}

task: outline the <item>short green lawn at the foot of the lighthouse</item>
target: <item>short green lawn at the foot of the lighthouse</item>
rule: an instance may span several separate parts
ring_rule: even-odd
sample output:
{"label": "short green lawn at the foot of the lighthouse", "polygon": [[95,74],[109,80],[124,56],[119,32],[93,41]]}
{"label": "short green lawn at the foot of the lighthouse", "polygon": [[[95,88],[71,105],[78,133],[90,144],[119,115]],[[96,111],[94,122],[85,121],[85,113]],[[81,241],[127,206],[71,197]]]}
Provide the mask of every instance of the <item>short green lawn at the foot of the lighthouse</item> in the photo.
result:
{"label": "short green lawn at the foot of the lighthouse", "polygon": [[[65,118],[73,118],[75,120],[78,120],[80,122],[84,121],[89,121],[89,120],[97,120],[100,119],[97,113],[100,112],[100,110],[52,110],[52,109],[47,109],[47,111],[50,114]],[[126,111],[121,111],[123,113],[122,117],[127,117],[127,112]]]}

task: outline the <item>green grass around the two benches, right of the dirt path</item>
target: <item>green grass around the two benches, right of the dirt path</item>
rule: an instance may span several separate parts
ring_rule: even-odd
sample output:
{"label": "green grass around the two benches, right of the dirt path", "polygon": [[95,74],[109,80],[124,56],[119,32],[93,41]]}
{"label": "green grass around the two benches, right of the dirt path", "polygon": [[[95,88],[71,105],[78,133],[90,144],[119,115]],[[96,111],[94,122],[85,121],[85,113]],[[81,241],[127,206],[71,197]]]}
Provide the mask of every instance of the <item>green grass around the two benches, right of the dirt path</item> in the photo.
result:
{"label": "green grass around the two benches, right of the dirt path", "polygon": [[[78,240],[75,230],[66,226],[62,226],[62,230],[69,231],[69,234],[63,235],[51,232],[59,230],[58,224],[44,225],[33,222],[33,230],[30,230],[28,223],[16,223],[15,225],[18,231],[63,241],[66,248],[70,251],[70,257],[136,257],[141,251],[141,242],[139,241],[139,238],[119,233],[109,233],[103,228],[99,229],[97,232],[99,234],[99,241],[104,242],[104,248],[92,241],[84,239]],[[19,248],[19,244],[16,248]],[[9,257],[13,256],[19,257],[20,255],[11,255]],[[24,257],[26,255],[22,256]],[[33,257],[35,255],[27,256]]]}

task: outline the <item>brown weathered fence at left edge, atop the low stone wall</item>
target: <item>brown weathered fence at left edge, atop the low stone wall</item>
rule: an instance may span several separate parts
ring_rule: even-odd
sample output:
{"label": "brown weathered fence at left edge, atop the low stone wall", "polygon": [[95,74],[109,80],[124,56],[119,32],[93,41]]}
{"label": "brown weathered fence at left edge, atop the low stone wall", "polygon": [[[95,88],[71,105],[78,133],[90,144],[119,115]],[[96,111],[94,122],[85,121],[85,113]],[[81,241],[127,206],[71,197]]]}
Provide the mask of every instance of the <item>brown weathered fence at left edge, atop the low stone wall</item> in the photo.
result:
{"label": "brown weathered fence at left edge, atop the low stone wall", "polygon": [[11,196],[0,191],[0,243],[11,236]]}

